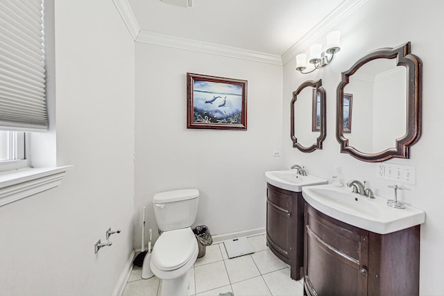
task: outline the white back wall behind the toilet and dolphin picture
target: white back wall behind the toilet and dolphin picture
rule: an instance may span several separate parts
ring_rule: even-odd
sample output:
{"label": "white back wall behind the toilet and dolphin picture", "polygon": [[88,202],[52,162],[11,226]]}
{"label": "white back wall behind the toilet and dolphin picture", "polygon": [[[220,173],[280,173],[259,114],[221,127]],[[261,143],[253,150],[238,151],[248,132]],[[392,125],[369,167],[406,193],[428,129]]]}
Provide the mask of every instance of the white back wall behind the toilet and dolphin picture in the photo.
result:
{"label": "white back wall behind the toilet and dolphin picture", "polygon": [[[265,227],[264,172],[281,167],[282,66],[136,42],[135,216],[160,191],[197,188],[196,225]],[[248,80],[248,130],[187,129],[187,72]],[[140,247],[135,218],[135,247]]]}

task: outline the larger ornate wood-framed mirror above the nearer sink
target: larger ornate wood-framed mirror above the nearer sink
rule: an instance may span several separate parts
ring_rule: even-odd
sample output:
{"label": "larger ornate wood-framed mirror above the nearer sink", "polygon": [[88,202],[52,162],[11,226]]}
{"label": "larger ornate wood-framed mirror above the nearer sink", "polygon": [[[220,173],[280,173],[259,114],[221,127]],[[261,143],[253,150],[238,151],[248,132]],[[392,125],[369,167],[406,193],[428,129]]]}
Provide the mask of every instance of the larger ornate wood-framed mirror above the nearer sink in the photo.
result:
{"label": "larger ornate wood-framed mirror above the nearer sink", "polygon": [[409,158],[421,134],[422,76],[410,42],[368,53],[341,76],[336,89],[341,153],[364,162]]}

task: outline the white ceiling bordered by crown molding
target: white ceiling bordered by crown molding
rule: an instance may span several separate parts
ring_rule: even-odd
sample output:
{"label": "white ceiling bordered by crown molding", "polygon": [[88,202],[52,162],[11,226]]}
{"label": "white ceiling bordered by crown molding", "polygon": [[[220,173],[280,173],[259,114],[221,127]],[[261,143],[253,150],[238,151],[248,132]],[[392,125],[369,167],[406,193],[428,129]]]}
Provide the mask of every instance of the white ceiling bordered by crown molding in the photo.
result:
{"label": "white ceiling bordered by crown molding", "polygon": [[283,55],[345,0],[128,0],[141,30]]}

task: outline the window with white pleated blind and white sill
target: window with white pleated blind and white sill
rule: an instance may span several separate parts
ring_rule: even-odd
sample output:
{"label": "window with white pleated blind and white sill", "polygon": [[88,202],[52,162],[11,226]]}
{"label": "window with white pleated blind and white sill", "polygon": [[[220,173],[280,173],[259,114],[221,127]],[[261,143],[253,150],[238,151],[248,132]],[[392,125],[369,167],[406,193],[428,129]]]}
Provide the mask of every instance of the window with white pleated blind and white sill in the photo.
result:
{"label": "window with white pleated blind and white sill", "polygon": [[[49,24],[53,24],[53,4],[53,0],[45,1],[48,12],[45,20]],[[53,26],[47,29],[49,71],[53,73]],[[38,147],[32,154],[42,156],[33,159],[38,167],[26,159],[31,154],[28,139],[35,136],[32,132],[46,132],[49,125],[43,1],[0,1],[0,43],[0,207],[3,207],[58,186],[71,166],[56,167],[53,162],[46,162],[50,157],[44,155],[44,147],[49,142],[35,141],[39,137],[33,137],[32,143],[34,148]]]}

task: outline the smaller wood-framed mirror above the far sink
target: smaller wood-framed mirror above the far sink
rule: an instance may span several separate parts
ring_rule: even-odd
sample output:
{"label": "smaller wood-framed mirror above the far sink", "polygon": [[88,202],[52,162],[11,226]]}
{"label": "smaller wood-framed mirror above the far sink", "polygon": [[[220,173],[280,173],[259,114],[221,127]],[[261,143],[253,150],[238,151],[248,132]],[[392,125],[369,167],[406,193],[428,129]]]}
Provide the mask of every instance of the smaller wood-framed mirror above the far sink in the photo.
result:
{"label": "smaller wood-framed mirror above the far sink", "polygon": [[293,147],[309,153],[325,139],[325,89],[322,80],[306,81],[293,92],[290,137]]}

